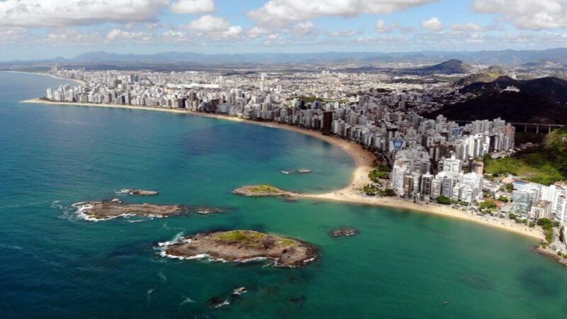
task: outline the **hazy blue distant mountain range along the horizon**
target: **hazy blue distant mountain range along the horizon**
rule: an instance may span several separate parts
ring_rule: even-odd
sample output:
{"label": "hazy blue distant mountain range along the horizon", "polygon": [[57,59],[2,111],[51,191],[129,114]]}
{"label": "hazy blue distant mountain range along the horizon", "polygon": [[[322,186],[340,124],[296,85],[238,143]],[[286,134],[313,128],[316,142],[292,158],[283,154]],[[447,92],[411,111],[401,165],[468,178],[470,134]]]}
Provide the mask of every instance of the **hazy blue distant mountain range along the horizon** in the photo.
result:
{"label": "hazy blue distant mountain range along the horizon", "polygon": [[446,60],[462,60],[485,65],[524,65],[525,67],[563,67],[567,64],[567,48],[549,50],[503,51],[426,51],[426,52],[310,52],[310,53],[246,53],[203,54],[196,52],[163,52],[151,55],[89,52],[71,59],[9,61],[14,63],[391,63],[410,62],[435,64]]}

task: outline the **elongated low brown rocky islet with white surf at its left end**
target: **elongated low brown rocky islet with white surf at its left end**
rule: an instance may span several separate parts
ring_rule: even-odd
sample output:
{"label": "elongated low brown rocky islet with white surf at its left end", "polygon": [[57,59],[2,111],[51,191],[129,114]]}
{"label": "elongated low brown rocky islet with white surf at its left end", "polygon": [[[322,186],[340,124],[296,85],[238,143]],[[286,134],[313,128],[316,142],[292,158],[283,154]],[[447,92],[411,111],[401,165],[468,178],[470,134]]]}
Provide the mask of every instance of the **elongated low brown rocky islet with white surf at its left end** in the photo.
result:
{"label": "elongated low brown rocky islet with white surf at its left end", "polygon": [[125,204],[116,198],[108,201],[76,203],[73,206],[77,207],[77,213],[94,220],[119,216],[169,217],[185,211],[185,208],[180,205]]}

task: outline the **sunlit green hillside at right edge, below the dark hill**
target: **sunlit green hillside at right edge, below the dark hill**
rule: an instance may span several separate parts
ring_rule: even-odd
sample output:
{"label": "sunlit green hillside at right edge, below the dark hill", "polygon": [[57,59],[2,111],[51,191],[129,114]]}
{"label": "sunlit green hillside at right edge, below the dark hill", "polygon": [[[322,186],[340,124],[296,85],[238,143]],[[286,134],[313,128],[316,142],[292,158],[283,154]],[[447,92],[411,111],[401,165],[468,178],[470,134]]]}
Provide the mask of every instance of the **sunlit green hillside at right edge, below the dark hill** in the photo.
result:
{"label": "sunlit green hillside at right edge, below the dark hill", "polygon": [[567,179],[567,128],[554,130],[543,145],[518,152],[512,157],[485,157],[488,174],[514,174],[528,181],[550,185]]}

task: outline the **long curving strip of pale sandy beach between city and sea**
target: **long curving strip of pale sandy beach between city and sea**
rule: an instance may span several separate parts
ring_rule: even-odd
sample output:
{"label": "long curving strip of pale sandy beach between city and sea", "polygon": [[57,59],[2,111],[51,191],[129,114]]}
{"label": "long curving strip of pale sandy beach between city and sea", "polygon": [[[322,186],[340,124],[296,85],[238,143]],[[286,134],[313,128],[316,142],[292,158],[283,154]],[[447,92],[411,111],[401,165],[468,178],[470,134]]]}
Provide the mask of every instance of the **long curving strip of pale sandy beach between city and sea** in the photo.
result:
{"label": "long curving strip of pale sandy beach between city and sea", "polygon": [[40,103],[40,104],[52,104],[60,106],[91,106],[91,107],[101,107],[101,108],[125,108],[134,110],[146,110],[146,111],[162,111],[169,113],[182,113],[194,116],[204,116],[208,118],[218,118],[228,121],[237,121],[241,123],[249,123],[254,125],[263,125],[270,128],[280,128],[283,130],[290,130],[293,132],[309,135],[313,138],[318,138],[332,145],[340,147],[345,152],[349,153],[355,160],[357,167],[352,175],[352,181],[349,186],[338,191],[332,191],[326,194],[296,194],[297,197],[310,198],[315,200],[324,201],[338,201],[346,203],[355,203],[368,206],[381,206],[388,208],[398,208],[408,211],[416,211],[420,213],[430,213],[437,216],[445,216],[449,218],[458,218],[460,220],[467,220],[470,222],[478,223],[481,225],[490,226],[493,228],[498,228],[500,230],[506,230],[512,233],[517,233],[519,235],[524,235],[532,237],[537,240],[544,240],[544,234],[541,230],[537,228],[528,228],[524,224],[515,223],[513,220],[500,219],[500,218],[489,218],[485,216],[478,216],[476,213],[459,211],[451,206],[442,206],[437,203],[430,203],[426,205],[425,203],[413,203],[412,201],[407,201],[402,198],[394,197],[371,197],[366,196],[362,193],[361,189],[366,184],[370,184],[371,181],[368,177],[369,173],[372,171],[372,164],[374,162],[375,156],[368,150],[357,144],[356,142],[343,140],[342,138],[337,138],[331,135],[323,135],[319,131],[307,130],[304,128],[298,128],[296,126],[291,126],[282,123],[274,122],[258,122],[250,121],[243,118],[237,118],[234,116],[225,116],[220,114],[212,113],[201,113],[195,111],[183,111],[173,108],[154,108],[149,106],[126,106],[118,104],[99,104],[99,103],[76,103],[76,102],[55,102],[55,101],[45,101],[43,99],[31,99],[27,101],[22,101],[21,103]]}

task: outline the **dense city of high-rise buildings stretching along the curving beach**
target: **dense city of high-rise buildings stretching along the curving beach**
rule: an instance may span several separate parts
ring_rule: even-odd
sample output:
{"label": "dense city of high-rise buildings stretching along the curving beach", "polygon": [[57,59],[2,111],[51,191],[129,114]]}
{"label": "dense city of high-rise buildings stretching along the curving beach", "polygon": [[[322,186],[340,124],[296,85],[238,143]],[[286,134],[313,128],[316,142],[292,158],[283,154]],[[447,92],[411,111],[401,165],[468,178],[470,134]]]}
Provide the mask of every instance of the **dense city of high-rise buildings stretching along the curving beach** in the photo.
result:
{"label": "dense city of high-rise buildings stretching along the curving beach", "polygon": [[[108,103],[276,121],[354,140],[393,164],[391,188],[399,196],[473,203],[483,194],[483,167],[475,159],[515,146],[515,129],[500,119],[465,125],[420,116],[440,85],[376,89],[373,75],[238,74],[206,72],[86,72],[53,70],[84,85],[47,89],[47,99]],[[365,90],[366,89],[366,90]],[[364,92],[364,93],[363,93]]]}

